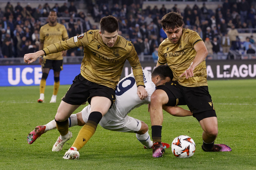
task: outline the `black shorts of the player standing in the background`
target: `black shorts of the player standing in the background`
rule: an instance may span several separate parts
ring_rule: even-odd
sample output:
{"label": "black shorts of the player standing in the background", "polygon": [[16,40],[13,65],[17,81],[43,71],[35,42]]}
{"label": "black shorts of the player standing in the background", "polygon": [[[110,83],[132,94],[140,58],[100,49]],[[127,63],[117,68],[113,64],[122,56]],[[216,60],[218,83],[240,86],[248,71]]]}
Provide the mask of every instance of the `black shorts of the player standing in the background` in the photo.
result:
{"label": "black shorts of the player standing in the background", "polygon": [[42,69],[48,68],[59,72],[63,70],[63,60],[43,59],[41,67]]}

